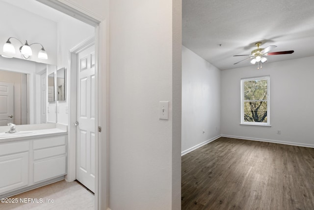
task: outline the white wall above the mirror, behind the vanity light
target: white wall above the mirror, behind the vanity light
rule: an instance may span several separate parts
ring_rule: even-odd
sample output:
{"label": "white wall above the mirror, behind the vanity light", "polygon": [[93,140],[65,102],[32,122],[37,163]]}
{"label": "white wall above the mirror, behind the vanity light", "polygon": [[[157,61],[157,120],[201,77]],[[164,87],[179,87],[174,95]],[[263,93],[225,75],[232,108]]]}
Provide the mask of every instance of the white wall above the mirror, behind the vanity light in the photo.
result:
{"label": "white wall above the mirror, behind the vanity light", "polygon": [[[14,36],[23,44],[27,40],[28,44],[38,42],[44,46],[48,54],[48,60],[37,58],[38,52],[41,50],[41,46],[38,44],[31,46],[34,56],[31,56],[29,60],[49,64],[57,63],[57,34],[55,32],[57,26],[55,22],[3,1],[0,1],[0,8],[2,8],[0,12],[0,54],[5,54],[2,52],[2,44],[9,37]],[[22,44],[16,39],[10,39],[10,41],[16,50],[16,54],[13,57],[24,59],[19,51],[19,47]]]}

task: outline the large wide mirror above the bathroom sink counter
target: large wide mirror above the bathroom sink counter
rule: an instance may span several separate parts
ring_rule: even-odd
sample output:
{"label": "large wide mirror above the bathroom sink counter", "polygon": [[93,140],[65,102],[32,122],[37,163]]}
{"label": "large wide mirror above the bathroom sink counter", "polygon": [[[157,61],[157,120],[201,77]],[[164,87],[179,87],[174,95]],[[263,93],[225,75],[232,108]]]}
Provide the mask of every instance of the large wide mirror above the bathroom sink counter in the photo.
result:
{"label": "large wide mirror above the bathroom sink counter", "polygon": [[[0,82],[13,84],[13,94],[11,94],[13,106],[0,104],[0,126],[7,125],[9,122],[17,125],[56,122],[56,104],[48,103],[47,97],[47,75],[56,72],[56,69],[55,65],[0,56]],[[52,79],[53,84],[54,76]],[[56,98],[54,93],[55,90],[52,94],[53,101]],[[12,107],[13,111],[4,112],[5,107]],[[1,116],[1,112],[5,114]]]}

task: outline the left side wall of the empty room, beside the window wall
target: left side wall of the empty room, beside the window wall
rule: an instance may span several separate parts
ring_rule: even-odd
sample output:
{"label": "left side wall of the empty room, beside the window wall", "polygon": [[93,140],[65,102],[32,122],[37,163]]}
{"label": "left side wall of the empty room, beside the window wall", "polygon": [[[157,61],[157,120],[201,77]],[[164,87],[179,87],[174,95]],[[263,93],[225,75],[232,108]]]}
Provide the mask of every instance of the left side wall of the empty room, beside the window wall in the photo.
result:
{"label": "left side wall of the empty room, beside the window wall", "polygon": [[220,70],[183,46],[182,153],[219,136]]}

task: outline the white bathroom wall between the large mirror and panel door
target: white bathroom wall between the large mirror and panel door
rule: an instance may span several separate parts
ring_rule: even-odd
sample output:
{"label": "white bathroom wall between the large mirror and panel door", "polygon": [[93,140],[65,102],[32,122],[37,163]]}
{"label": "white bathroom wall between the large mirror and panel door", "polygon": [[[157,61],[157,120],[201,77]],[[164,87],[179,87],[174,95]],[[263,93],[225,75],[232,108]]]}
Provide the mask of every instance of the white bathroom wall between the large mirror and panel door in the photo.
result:
{"label": "white bathroom wall between the large mirror and panel door", "polygon": [[70,49],[77,46],[82,41],[95,34],[95,28],[87,25],[70,16],[64,17],[57,23],[57,49],[58,49],[58,65],[57,69],[65,67],[66,70],[66,100],[57,101],[57,122],[68,124],[69,121],[69,84],[70,84],[70,66],[69,52]]}

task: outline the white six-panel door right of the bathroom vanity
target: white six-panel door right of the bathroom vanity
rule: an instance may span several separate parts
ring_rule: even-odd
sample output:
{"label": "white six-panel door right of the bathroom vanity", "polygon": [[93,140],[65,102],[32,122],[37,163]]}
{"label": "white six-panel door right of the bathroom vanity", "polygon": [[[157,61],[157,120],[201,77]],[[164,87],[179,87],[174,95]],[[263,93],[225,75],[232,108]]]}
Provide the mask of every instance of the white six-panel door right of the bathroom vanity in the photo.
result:
{"label": "white six-panel door right of the bathroom vanity", "polygon": [[78,54],[77,180],[95,191],[95,47]]}

